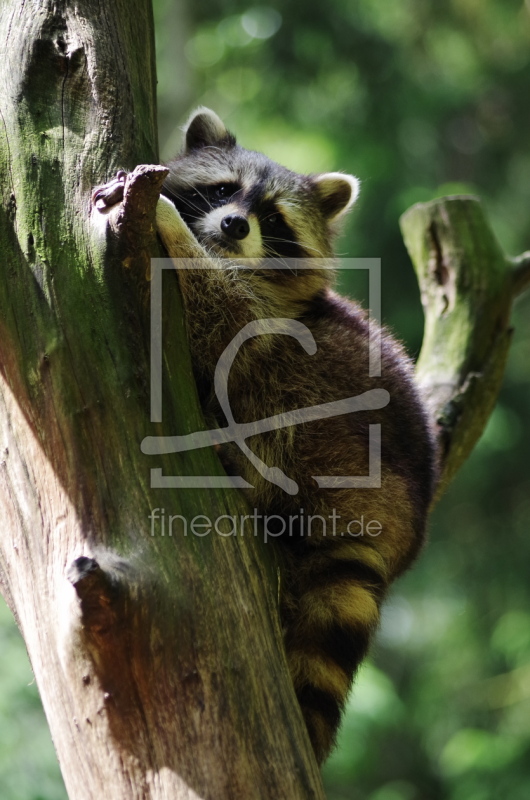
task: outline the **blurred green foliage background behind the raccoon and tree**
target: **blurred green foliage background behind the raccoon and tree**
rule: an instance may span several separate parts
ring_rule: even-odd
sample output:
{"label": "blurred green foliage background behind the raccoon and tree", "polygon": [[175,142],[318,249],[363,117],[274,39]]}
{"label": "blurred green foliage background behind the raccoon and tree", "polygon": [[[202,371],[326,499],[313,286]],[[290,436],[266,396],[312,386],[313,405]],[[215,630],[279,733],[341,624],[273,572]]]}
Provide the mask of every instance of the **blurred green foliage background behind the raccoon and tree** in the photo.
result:
{"label": "blurred green foliage background behind the raccoon and tree", "polygon": [[[480,195],[530,248],[530,2],[155,0],[163,157],[198,103],[295,170],[362,180],[340,252],[377,256],[413,354],[412,203]],[[361,300],[362,280],[343,287]],[[324,769],[329,800],[530,797],[530,296],[499,404],[395,588]],[[65,797],[24,647],[0,609],[0,797]]]}

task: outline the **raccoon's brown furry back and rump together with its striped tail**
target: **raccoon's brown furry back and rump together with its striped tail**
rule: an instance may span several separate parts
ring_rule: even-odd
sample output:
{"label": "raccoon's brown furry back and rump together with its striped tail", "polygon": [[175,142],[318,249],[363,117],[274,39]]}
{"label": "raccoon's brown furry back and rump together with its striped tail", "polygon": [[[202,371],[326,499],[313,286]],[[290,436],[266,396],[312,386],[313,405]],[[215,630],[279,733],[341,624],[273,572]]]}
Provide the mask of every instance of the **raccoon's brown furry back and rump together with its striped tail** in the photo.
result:
{"label": "raccoon's brown furry back and rump together with its striped tail", "polygon": [[[322,761],[333,745],[388,586],[421,547],[435,462],[429,421],[401,346],[381,331],[372,344],[376,363],[380,345],[380,374],[370,375],[369,324],[358,307],[326,293],[301,321],[313,333],[317,352],[309,356],[298,342],[277,337],[268,357],[256,361],[255,371],[238,375],[236,370],[229,396],[238,421],[374,388],[384,388],[390,396],[380,410],[315,420],[248,440],[266,464],[296,481],[296,495],[267,482],[237,448],[231,452],[232,471],[255,486],[249,492],[251,503],[268,515],[269,532],[281,534],[274,541],[285,566],[287,657]],[[380,426],[380,463],[374,463],[373,454],[370,458],[374,425]],[[379,488],[318,486],[321,476],[370,475],[379,480]],[[270,521],[274,515],[275,529]]]}

